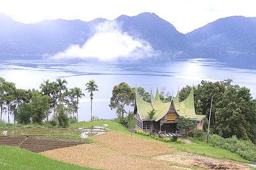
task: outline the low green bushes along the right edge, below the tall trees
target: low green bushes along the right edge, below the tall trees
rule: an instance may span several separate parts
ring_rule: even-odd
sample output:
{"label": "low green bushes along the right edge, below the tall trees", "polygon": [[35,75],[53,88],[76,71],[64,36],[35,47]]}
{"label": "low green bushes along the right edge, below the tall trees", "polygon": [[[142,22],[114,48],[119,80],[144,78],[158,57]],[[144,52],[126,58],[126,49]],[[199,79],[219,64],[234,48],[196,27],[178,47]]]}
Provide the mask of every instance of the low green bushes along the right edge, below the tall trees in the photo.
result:
{"label": "low green bushes along the right edge, below the tall trees", "polygon": [[237,153],[246,160],[256,162],[256,146],[251,141],[237,139],[236,136],[223,138],[220,135],[210,135],[212,146],[218,146],[232,153]]}

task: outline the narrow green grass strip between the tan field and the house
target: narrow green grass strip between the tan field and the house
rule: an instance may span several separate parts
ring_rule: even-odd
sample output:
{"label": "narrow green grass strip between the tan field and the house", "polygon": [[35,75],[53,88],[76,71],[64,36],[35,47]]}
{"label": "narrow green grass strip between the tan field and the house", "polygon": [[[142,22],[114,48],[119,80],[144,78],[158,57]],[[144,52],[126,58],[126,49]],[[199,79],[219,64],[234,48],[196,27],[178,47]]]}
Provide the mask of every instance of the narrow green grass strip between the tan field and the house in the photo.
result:
{"label": "narrow green grass strip between the tan field and the house", "polygon": [[[102,126],[104,124],[108,124],[109,125],[108,128],[110,130],[122,132],[124,134],[131,134],[131,132],[129,132],[129,130],[127,130],[127,128],[125,128],[123,125],[120,125],[120,123],[112,120],[84,121],[84,122],[72,124],[70,125],[70,127],[71,128],[79,128],[79,127],[90,128],[93,126]],[[156,140],[156,139],[153,139],[152,137],[148,137],[145,135],[140,135],[135,133],[133,133],[132,135],[135,135],[136,137],[140,137],[144,139]],[[160,142],[163,142],[163,141],[160,141]],[[244,158],[240,157],[236,153],[231,153],[228,150],[224,150],[218,147],[213,147],[210,144],[202,143],[199,141],[193,144],[184,144],[184,143],[166,143],[166,144],[169,144],[173,148],[177,148],[177,150],[180,150],[180,151],[186,151],[189,153],[195,153],[195,154],[203,155],[207,157],[236,160],[239,162],[248,162],[248,160],[245,160]]]}

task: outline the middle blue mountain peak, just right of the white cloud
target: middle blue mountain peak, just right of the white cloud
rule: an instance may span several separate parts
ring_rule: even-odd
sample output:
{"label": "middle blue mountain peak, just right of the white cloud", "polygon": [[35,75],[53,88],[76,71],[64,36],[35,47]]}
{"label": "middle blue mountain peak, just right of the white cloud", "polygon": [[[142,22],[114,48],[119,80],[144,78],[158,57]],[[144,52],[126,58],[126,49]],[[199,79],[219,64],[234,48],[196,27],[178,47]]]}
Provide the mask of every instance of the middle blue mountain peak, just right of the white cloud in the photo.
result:
{"label": "middle blue mountain peak, just right of the white cloud", "polygon": [[191,51],[186,36],[155,13],[141,13],[134,17],[121,15],[115,21],[122,23],[123,31],[133,37],[146,40],[155,50],[172,54]]}

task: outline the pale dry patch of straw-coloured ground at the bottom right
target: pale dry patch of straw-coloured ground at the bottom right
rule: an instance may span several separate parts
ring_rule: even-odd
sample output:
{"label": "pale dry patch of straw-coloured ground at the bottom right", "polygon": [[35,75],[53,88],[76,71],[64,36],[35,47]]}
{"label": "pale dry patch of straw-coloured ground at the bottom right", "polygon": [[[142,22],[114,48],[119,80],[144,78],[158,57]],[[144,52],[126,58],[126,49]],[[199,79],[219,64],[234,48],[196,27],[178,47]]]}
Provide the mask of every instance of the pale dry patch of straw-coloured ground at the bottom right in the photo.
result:
{"label": "pale dry patch of straw-coloured ground at the bottom right", "polygon": [[236,162],[218,160],[216,158],[203,157],[181,151],[177,151],[171,155],[161,155],[155,158],[157,160],[167,160],[177,164],[199,166],[207,169],[250,169],[248,166],[237,164]]}

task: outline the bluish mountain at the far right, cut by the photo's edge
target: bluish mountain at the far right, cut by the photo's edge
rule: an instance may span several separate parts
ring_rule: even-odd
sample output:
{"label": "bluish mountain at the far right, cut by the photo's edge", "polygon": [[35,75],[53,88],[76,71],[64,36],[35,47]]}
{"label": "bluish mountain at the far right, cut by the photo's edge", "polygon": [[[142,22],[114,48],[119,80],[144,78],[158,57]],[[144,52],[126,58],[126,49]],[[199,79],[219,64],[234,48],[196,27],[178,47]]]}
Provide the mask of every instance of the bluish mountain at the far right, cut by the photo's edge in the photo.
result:
{"label": "bluish mountain at the far right, cut by the photo's edge", "polygon": [[204,54],[256,54],[256,17],[226,17],[187,33]]}

